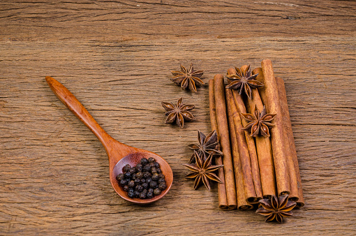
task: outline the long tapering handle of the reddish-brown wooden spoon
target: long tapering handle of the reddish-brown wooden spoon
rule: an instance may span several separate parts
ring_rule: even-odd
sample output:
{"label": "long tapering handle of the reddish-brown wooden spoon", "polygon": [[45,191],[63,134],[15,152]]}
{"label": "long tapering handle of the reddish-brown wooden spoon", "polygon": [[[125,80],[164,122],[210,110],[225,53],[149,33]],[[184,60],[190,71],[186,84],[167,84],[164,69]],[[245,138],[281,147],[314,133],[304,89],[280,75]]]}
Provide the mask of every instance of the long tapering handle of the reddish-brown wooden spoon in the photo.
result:
{"label": "long tapering handle of the reddish-brown wooden spoon", "polygon": [[66,107],[91,130],[91,132],[96,135],[105,149],[107,149],[108,144],[114,139],[111,138],[110,135],[103,130],[103,128],[101,128],[98,122],[96,122],[95,119],[89,114],[87,109],[84,108],[82,103],[75,98],[71,91],[69,91],[57,80],[54,80],[54,78],[47,76],[46,81],[59,100],[64,103],[64,105],[66,105]]}

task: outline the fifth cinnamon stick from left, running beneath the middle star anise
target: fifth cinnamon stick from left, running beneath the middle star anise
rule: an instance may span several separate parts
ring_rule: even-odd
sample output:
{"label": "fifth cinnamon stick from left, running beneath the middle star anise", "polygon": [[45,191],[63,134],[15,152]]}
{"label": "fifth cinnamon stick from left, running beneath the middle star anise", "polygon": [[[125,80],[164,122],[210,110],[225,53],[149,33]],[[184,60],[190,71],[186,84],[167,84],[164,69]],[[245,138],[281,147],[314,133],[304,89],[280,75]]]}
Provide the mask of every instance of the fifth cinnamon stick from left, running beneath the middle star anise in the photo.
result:
{"label": "fifth cinnamon stick from left, running beneath the middle star anise", "polygon": [[[258,93],[258,89],[252,89],[252,99],[247,99],[246,110],[253,113],[255,109],[263,110],[263,103]],[[274,176],[274,163],[272,145],[269,137],[258,135],[255,137],[255,144],[260,166],[260,179],[263,198],[271,198],[276,195],[276,177]]]}

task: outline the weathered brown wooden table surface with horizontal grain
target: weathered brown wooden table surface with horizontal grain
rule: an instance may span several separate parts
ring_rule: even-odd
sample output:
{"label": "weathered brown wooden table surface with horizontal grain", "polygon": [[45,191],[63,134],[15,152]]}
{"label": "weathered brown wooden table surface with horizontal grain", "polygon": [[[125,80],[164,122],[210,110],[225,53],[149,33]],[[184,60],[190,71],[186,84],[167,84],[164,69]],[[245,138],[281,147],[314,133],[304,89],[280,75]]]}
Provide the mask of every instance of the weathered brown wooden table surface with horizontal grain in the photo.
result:
{"label": "weathered brown wooden table surface with horizontal grain", "polygon": [[[52,3],[50,3],[52,2]],[[356,233],[356,2],[1,1],[0,235],[353,235]],[[306,205],[283,225],[218,209],[182,164],[209,132],[205,82],[271,59],[285,80]],[[113,138],[172,166],[172,189],[140,206],[119,198],[105,149],[45,82],[70,89]],[[161,101],[196,105],[164,124]]]}

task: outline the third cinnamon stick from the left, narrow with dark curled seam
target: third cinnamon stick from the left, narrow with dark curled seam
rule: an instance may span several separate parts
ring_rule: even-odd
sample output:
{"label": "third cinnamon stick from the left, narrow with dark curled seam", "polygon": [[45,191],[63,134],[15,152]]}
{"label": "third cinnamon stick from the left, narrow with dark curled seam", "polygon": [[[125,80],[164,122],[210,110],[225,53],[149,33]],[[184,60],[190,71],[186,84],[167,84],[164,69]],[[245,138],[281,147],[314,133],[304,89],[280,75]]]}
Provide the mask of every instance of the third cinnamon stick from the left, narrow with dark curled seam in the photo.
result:
{"label": "third cinnamon stick from the left, narrow with dark curled seam", "polygon": [[239,116],[237,110],[235,113],[232,111],[232,108],[235,107],[235,101],[232,96],[230,89],[226,89],[226,103],[228,105],[228,121],[230,128],[230,143],[231,143],[231,152],[232,160],[234,163],[234,172],[235,172],[235,183],[237,190],[237,209],[253,209],[253,206],[246,201],[246,195],[244,191],[244,182],[242,180],[242,168],[239,156],[239,147],[237,146],[237,138],[235,132],[235,124],[233,117]]}

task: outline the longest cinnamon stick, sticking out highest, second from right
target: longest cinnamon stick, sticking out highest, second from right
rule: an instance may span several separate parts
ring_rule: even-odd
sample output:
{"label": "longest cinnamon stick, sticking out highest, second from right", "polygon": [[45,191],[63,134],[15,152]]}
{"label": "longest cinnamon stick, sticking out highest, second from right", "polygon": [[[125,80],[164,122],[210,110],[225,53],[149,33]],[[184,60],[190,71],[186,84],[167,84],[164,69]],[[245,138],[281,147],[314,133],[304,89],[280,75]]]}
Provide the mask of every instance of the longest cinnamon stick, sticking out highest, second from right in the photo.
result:
{"label": "longest cinnamon stick, sticking out highest, second from right", "polygon": [[262,61],[262,76],[259,76],[260,82],[264,87],[258,88],[263,103],[266,105],[267,113],[277,114],[274,119],[275,126],[271,128],[272,152],[274,158],[274,170],[276,172],[277,193],[290,194],[290,177],[288,175],[287,154],[283,147],[283,113],[281,103],[279,103],[279,91],[274,78],[272,62],[270,60]]}

